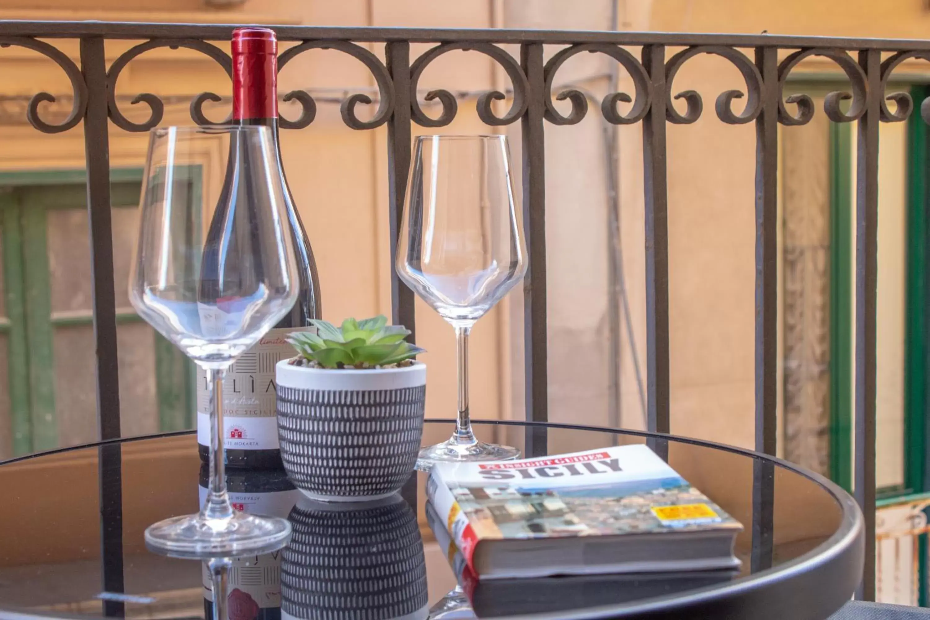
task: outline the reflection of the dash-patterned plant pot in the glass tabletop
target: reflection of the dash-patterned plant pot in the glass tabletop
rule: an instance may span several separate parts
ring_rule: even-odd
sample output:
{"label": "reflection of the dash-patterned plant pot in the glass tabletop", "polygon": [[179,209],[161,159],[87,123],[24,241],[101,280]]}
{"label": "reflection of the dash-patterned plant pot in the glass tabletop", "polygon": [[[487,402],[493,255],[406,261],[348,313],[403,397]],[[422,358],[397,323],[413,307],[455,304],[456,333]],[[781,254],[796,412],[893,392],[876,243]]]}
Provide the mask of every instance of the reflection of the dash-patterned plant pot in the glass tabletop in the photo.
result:
{"label": "reflection of the dash-patterned plant pot in the glass tabletop", "polygon": [[426,617],[422,539],[403,500],[342,510],[301,503],[288,519],[293,534],[281,562],[284,617]]}

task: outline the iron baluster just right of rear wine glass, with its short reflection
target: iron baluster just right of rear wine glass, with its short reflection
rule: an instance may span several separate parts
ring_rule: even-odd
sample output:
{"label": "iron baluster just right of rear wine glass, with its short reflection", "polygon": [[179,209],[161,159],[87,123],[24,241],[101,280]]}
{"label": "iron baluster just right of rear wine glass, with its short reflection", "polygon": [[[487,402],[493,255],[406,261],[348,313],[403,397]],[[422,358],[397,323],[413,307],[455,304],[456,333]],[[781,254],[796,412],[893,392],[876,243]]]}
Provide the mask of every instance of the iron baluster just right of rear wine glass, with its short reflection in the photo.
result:
{"label": "iron baluster just right of rear wine glass, with its short reflection", "polygon": [[[549,420],[549,373],[546,340],[546,152],[543,128],[545,76],[542,44],[520,46],[520,65],[529,82],[523,128],[523,215],[529,270],[524,280],[526,419]],[[548,451],[546,429],[526,429],[526,456]]]}

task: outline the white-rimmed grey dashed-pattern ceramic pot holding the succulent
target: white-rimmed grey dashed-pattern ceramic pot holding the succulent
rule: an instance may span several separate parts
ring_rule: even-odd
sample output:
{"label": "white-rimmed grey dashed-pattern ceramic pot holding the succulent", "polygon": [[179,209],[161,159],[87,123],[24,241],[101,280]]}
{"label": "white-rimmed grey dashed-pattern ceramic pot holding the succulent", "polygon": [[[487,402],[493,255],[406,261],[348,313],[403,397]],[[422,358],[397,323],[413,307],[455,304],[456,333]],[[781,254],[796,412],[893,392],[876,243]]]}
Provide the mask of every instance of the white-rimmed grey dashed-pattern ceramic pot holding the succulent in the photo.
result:
{"label": "white-rimmed grey dashed-pattern ceramic pot holding the succulent", "polygon": [[363,502],[400,490],[417,464],[426,365],[330,370],[283,361],[276,376],[281,459],[300,491]]}

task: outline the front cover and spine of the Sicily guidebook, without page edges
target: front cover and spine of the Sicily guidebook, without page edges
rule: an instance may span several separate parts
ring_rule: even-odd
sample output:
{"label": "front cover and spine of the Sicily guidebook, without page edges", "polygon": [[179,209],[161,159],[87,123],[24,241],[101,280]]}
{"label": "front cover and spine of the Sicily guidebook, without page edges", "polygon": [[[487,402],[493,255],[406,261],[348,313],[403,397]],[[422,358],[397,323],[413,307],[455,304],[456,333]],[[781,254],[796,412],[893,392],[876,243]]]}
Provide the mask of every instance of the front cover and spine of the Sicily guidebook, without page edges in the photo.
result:
{"label": "front cover and spine of the Sicily guidebook, without page edges", "polygon": [[427,492],[472,570],[482,540],[742,529],[645,445],[441,463]]}

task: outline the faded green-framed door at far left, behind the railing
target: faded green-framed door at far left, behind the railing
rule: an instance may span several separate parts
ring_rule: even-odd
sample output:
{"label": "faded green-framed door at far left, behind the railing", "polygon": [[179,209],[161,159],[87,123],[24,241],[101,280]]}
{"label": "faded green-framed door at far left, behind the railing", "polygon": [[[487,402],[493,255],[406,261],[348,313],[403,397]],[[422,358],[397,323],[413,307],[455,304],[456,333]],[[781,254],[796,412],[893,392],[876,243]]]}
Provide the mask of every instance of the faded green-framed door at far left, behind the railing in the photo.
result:
{"label": "faded green-framed door at far left, behind the railing", "polygon": [[[0,192],[0,458],[98,439],[85,185],[43,180]],[[112,195],[122,434],[190,428],[193,367],[128,301],[140,181]]]}

